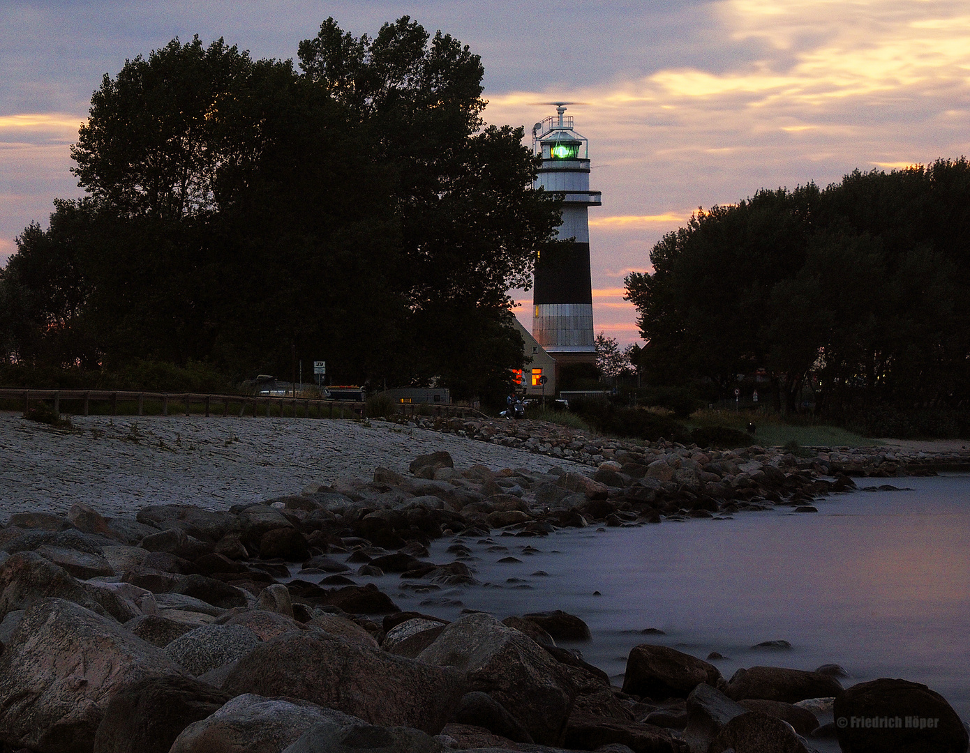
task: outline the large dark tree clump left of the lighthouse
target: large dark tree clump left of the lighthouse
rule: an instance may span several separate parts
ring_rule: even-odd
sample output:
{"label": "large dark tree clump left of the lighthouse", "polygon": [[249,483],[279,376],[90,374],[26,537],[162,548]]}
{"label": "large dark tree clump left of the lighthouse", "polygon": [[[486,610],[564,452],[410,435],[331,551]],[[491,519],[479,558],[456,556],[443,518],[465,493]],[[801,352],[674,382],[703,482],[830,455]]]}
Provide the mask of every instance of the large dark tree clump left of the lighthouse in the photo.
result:
{"label": "large dark tree clump left of the lighthouse", "polygon": [[105,76],[84,197],[0,272],[8,364],[506,389],[506,291],[560,220],[522,130],[481,119],[479,57],[405,16],[373,38],[328,19],[298,63],[196,38]]}

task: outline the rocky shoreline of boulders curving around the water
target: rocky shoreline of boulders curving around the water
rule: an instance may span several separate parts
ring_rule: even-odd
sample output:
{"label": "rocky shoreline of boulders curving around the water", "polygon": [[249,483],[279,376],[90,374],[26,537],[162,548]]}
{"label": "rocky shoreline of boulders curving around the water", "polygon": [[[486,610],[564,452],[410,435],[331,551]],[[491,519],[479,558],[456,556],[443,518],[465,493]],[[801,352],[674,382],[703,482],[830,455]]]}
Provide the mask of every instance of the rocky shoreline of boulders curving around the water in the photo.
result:
{"label": "rocky shoreline of boulders curving around the water", "polygon": [[[967,750],[953,708],[918,683],[843,688],[835,666],[726,678],[645,636],[618,687],[557,643],[591,638],[578,616],[448,622],[348,577],[469,583],[467,544],[496,534],[811,512],[815,496],[855,486],[830,457],[599,450],[613,452],[592,478],[460,469],[438,452],[409,475],[377,468],[228,511],[106,518],[76,504],[11,516],[0,529],[4,753]],[[427,559],[440,537],[454,537],[451,562]]]}

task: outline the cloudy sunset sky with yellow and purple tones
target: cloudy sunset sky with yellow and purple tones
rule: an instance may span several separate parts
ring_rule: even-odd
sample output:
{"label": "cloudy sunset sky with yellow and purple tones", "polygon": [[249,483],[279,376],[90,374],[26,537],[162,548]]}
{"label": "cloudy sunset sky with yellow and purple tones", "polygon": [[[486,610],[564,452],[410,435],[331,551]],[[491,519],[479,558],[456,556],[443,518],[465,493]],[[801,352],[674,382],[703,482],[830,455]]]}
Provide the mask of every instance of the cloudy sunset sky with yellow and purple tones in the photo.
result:
{"label": "cloudy sunset sky with yellow and purple tones", "polygon": [[[566,100],[590,140],[594,321],[637,341],[624,277],[697,207],[970,154],[970,4],[957,0],[0,0],[0,265],[54,198],[105,74],[173,37],[295,58],[333,16],[411,16],[480,54],[491,123]],[[531,294],[517,313],[531,329]]]}

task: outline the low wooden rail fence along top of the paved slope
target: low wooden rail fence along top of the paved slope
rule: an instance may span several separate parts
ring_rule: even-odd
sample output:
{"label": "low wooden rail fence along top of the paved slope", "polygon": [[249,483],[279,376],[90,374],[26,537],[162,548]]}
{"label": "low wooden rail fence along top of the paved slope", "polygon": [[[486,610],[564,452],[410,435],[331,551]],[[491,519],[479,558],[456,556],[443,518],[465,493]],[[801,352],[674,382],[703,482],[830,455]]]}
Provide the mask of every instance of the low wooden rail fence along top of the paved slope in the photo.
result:
{"label": "low wooden rail fence along top of the paved slope", "polygon": [[[23,414],[27,415],[31,400],[51,402],[55,413],[61,412],[61,402],[80,403],[83,416],[89,416],[91,402],[110,402],[112,415],[117,415],[119,402],[137,402],[138,415],[145,415],[146,402],[161,403],[163,416],[170,415],[170,408],[178,409],[172,415],[191,415],[193,405],[201,406],[206,417],[228,416],[229,406],[239,405],[239,416],[242,418],[247,412],[252,416],[263,415],[269,417],[278,407],[278,416],[287,414],[293,418],[346,418],[347,414],[355,418],[367,418],[367,403],[354,400],[323,400],[307,397],[281,397],[278,395],[249,395],[249,394],[206,394],[200,392],[132,392],[120,390],[30,390],[22,388],[0,388],[0,400],[22,401]],[[221,408],[221,411],[219,411]],[[299,409],[303,409],[300,411]],[[464,405],[441,405],[436,403],[395,403],[395,411],[405,416],[416,418],[469,418],[484,417],[479,411]],[[311,415],[311,409],[315,416]],[[64,411],[70,413],[70,411]],[[235,412],[235,411],[234,411]],[[302,415],[301,415],[302,414]]]}

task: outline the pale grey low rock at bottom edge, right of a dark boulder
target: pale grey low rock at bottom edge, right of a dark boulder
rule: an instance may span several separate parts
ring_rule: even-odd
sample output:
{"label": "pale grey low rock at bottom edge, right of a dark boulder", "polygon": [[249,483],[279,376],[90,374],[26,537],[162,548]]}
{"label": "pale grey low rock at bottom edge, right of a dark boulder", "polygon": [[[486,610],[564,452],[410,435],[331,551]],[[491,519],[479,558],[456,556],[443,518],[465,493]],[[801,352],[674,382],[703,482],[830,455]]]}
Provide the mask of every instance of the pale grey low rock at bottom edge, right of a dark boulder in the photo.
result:
{"label": "pale grey low rock at bottom edge, right of a dark boulder", "polygon": [[186,727],[170,753],[279,753],[321,722],[359,720],[296,698],[241,695]]}

